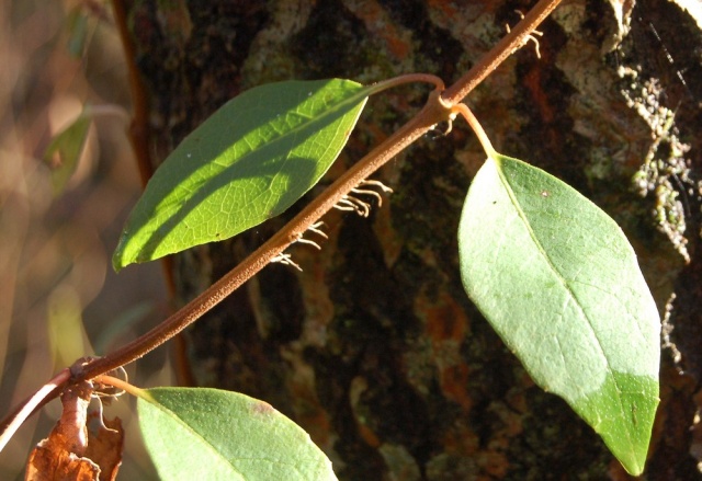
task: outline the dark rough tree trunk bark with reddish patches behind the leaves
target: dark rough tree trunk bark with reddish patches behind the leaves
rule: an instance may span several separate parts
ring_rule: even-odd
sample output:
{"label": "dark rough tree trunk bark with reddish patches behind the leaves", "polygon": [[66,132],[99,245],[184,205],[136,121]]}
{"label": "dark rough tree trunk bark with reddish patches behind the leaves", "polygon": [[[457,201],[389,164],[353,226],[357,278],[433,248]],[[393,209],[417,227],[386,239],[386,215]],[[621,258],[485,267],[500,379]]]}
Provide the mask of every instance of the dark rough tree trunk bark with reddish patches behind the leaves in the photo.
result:
{"label": "dark rough tree trunk bark with reddish patches behind the leaves", "polygon": [[[134,1],[156,157],[259,83],[369,83],[414,71],[451,82],[528,9],[505,0]],[[541,59],[528,44],[467,102],[499,151],[570,183],[630,237],[669,313],[647,479],[700,479],[700,25],[666,0],[573,0],[542,31]],[[372,99],[322,184],[426,92]],[[271,402],[310,433],[342,480],[626,479],[592,431],[532,383],[462,290],[455,232],[483,158],[455,125],[392,161],[377,179],[395,193],[370,219],[330,213],[320,253],[290,251],[302,273],[267,267],[189,330],[197,381]],[[178,256],[182,299],[282,221]]]}

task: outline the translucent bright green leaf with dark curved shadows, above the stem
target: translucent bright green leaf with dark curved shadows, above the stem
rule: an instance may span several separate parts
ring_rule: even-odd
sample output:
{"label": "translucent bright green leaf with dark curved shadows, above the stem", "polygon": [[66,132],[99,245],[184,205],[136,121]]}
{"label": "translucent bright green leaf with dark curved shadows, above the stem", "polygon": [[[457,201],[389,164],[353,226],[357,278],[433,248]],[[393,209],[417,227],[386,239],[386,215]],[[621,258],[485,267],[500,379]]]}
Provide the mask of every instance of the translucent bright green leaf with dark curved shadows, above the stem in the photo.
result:
{"label": "translucent bright green leaf with dark curved shadows, above the stem", "polygon": [[283,213],[339,156],[369,93],[350,80],[288,81],[230,100],[156,171],[114,268],[227,239]]}

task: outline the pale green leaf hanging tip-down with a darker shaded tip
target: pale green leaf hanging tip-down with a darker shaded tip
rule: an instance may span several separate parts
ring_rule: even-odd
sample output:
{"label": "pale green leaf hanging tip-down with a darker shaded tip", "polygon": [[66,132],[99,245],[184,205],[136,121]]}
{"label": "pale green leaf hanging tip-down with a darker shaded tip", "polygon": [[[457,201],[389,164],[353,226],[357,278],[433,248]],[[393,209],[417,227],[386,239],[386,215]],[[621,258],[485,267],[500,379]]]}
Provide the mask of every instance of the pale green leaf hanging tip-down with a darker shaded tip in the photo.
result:
{"label": "pale green leaf hanging tip-down with a darker shaded tip", "polygon": [[458,243],[466,293],[534,381],[641,473],[660,320],[619,226],[556,177],[495,153],[471,185]]}

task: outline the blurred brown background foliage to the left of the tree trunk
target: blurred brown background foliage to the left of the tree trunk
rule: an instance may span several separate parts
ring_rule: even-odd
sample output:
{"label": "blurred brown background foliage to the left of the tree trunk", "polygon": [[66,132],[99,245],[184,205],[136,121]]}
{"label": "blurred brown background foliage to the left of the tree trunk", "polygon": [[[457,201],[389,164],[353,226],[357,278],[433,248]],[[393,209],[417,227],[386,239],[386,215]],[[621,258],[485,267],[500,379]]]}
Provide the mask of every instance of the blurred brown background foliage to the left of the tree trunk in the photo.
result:
{"label": "blurred brown background foliage to the left of the tree trunk", "polygon": [[[140,182],[126,137],[129,92],[109,2],[0,0],[0,412],[57,370],[123,344],[168,314],[158,263],[110,267]],[[42,159],[84,105],[93,117],[77,170],[54,192]],[[118,108],[115,108],[118,107]],[[53,159],[57,161],[57,159]],[[168,350],[127,368],[138,386],[172,385]],[[154,479],[133,400],[113,402],[127,432],[121,479]],[[52,402],[0,454],[0,479],[23,479],[33,445],[60,414]]]}

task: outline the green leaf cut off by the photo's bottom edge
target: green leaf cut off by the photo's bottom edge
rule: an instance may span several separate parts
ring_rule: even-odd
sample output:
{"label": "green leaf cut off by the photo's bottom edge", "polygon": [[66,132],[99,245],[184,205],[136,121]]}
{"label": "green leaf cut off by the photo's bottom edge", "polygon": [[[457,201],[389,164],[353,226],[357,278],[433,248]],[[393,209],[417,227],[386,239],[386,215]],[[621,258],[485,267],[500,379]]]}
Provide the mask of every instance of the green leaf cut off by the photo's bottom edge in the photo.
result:
{"label": "green leaf cut off by the photo's bottom edge", "polygon": [[146,447],[165,480],[336,480],[307,433],[270,404],[216,389],[137,398]]}

